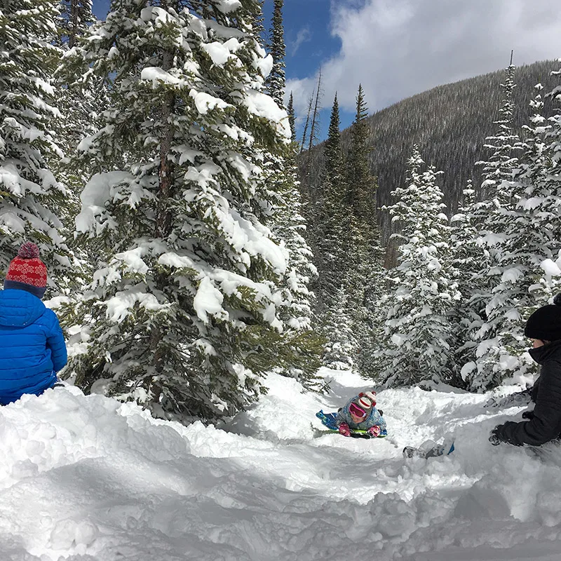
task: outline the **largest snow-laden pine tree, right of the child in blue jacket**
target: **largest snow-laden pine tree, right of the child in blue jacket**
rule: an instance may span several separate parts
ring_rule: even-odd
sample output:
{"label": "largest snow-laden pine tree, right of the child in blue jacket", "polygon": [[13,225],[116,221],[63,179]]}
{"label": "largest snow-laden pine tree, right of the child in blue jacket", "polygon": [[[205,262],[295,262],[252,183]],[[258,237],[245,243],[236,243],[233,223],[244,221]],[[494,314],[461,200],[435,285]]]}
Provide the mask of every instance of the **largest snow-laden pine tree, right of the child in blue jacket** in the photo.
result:
{"label": "largest snow-laden pine tree, right of the child in blue jacket", "polygon": [[119,0],[83,49],[112,107],[80,145],[105,173],[76,222],[100,267],[72,367],[87,390],[164,416],[233,414],[294,354],[280,320],[297,299],[290,255],[271,232],[288,201],[271,200],[264,167],[291,149],[290,128],[263,93],[258,10]]}

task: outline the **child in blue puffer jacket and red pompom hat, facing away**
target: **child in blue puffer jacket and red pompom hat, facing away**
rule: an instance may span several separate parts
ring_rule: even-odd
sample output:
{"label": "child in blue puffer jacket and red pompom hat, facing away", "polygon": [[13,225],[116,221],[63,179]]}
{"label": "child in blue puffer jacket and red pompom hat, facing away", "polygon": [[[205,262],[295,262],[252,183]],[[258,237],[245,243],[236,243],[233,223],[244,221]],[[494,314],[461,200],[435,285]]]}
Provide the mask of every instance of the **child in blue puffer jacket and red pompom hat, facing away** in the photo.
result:
{"label": "child in blue puffer jacket and red pompom hat, facing away", "polygon": [[41,302],[46,286],[39,248],[26,242],[12,259],[0,291],[0,405],[52,388],[67,362],[58,318]]}

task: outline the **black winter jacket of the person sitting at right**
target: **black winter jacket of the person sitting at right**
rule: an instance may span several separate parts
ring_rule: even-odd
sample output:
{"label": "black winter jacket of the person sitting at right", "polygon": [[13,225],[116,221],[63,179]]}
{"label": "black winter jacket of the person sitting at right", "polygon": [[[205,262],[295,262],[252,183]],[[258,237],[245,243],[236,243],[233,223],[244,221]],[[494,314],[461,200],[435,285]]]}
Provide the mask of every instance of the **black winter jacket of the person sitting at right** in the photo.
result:
{"label": "black winter jacket of the person sitting at right", "polygon": [[561,436],[561,340],[529,350],[541,365],[539,379],[532,390],[536,402],[530,421],[508,421],[494,430],[502,442],[516,446],[540,446]]}

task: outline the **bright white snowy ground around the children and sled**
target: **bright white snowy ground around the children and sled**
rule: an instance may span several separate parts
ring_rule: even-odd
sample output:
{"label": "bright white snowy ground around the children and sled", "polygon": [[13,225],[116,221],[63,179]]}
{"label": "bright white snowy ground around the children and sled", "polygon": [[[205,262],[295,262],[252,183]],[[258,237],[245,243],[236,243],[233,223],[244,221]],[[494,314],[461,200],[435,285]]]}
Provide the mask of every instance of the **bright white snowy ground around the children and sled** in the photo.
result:
{"label": "bright white snowy ground around the children and sled", "polygon": [[[269,395],[224,430],[72,387],[1,407],[1,561],[560,558],[561,450],[487,441],[522,408],[386,390],[388,438],[314,438],[317,410],[368,387],[327,374],[323,397],[269,377]],[[452,433],[448,457],[401,455]]]}

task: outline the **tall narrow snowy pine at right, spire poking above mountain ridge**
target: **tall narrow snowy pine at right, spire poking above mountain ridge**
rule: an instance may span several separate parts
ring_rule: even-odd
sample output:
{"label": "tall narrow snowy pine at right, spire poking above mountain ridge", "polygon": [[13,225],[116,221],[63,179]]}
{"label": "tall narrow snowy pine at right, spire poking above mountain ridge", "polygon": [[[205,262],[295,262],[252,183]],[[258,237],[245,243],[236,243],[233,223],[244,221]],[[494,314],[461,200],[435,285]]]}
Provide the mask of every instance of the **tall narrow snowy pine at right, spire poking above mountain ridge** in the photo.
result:
{"label": "tall narrow snowy pine at right, spire poking above mountain ridge", "polygon": [[514,73],[511,63],[501,84],[503,102],[499,120],[495,121],[497,132],[487,137],[485,144],[492,154],[486,163],[478,162],[485,165],[484,200],[475,205],[472,219],[480,229],[482,247],[489,252],[489,264],[478,275],[481,282],[474,284],[474,293],[487,300],[483,323],[473,334],[478,344],[475,364],[462,367],[462,376],[473,390],[492,388],[519,368],[527,369],[524,349],[520,348],[520,308],[526,297],[521,281],[525,269],[513,251],[517,239],[524,243],[520,232],[512,228],[518,220],[516,203],[520,199],[518,184],[513,180],[513,170],[518,165],[515,151],[521,148],[513,130]]}

